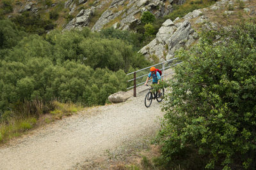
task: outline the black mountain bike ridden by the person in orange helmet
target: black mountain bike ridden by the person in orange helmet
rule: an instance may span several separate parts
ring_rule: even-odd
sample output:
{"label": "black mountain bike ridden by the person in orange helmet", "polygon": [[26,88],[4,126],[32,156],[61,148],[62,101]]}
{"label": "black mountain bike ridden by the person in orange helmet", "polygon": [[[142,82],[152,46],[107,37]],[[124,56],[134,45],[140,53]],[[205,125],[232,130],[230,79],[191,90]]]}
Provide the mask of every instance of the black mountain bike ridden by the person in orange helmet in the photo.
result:
{"label": "black mountain bike ridden by the person in orange helmet", "polygon": [[[147,86],[148,86],[148,85],[147,85]],[[156,92],[152,92],[152,91],[153,91],[153,88],[150,87],[150,88],[148,89],[148,93],[147,93],[146,96],[145,96],[145,106],[146,106],[147,108],[151,105],[153,99],[156,99],[157,102],[159,102],[159,103],[160,103],[161,101],[163,101],[164,89],[161,89],[161,90],[160,90],[160,94],[159,94],[158,91],[156,91]]]}

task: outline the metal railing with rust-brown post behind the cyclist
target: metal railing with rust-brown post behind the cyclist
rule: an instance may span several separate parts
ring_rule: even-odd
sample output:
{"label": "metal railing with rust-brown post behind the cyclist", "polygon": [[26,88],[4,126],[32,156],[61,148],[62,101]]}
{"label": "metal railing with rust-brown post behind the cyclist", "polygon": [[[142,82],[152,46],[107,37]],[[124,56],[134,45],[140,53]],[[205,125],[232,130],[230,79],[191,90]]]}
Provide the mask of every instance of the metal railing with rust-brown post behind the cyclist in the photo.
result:
{"label": "metal railing with rust-brown post behind the cyclist", "polygon": [[[162,71],[162,76],[161,76],[161,77],[164,77],[164,76],[166,76],[166,75],[168,75],[168,74],[171,74],[171,73],[164,74],[164,70],[166,70],[166,69],[168,69],[168,68],[170,68],[170,67],[177,66],[178,64],[181,63],[181,62],[177,62],[177,63],[173,64],[173,62],[174,62],[175,60],[177,60],[177,58],[173,58],[173,59],[170,59],[170,60],[166,60],[166,61],[164,61],[164,62],[159,62],[158,64],[154,64],[154,65],[152,65],[152,66],[145,67],[145,68],[140,69],[140,70],[138,70],[138,71],[134,71],[134,72],[132,72],[132,73],[128,73],[127,76],[133,74],[133,78],[132,78],[131,80],[128,80],[128,81],[127,81],[127,82],[130,82],[130,81],[133,80],[133,86],[128,87],[127,90],[133,88],[133,96],[136,97],[136,87],[138,87],[139,85],[142,85],[142,84],[144,84],[144,83],[146,82],[146,81],[143,81],[143,82],[137,84],[137,83],[136,83],[136,80],[138,80],[139,78],[143,78],[144,76],[148,76],[148,71],[147,71],[147,74],[143,74],[143,75],[138,76],[138,77],[136,77],[136,73],[139,73],[139,72],[141,72],[141,71],[143,71],[143,70],[145,70],[145,69],[148,69],[148,68],[150,68],[150,67],[154,67],[154,66],[159,66],[159,65],[161,65],[161,67],[162,67],[162,68],[160,69],[160,70]],[[172,64],[172,65],[166,67],[166,66],[165,66],[166,64],[167,64],[167,65]],[[150,81],[152,81],[152,80],[150,80]]]}

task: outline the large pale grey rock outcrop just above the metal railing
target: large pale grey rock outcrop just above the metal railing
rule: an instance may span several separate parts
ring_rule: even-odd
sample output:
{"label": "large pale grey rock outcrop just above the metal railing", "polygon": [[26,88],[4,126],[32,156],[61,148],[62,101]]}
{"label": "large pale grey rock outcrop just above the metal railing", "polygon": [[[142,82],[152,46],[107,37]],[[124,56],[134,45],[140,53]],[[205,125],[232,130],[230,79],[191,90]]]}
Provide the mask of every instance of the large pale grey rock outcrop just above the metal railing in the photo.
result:
{"label": "large pale grey rock outcrop just above the metal railing", "polygon": [[[187,16],[188,17],[188,16]],[[156,38],[139,51],[150,59],[156,55],[160,61],[173,58],[180,47],[189,47],[198,34],[192,29],[188,20],[174,24],[172,20],[166,20],[156,34]]]}

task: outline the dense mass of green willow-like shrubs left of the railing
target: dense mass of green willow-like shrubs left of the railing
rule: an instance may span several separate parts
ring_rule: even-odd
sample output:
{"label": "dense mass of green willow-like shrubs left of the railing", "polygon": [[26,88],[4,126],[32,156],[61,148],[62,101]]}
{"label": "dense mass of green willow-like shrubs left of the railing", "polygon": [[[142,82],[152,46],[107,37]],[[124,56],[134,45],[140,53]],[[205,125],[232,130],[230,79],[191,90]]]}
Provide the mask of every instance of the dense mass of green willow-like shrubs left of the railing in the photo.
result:
{"label": "dense mass of green willow-like shrubs left of the railing", "polygon": [[129,32],[93,33],[85,28],[52,31],[44,38],[19,31],[8,20],[0,20],[0,25],[4,25],[0,27],[3,122],[38,118],[51,111],[60,118],[77,111],[63,111],[60,104],[52,103],[55,99],[83,106],[108,103],[110,94],[126,90],[125,72],[149,64],[134,50],[138,36]]}

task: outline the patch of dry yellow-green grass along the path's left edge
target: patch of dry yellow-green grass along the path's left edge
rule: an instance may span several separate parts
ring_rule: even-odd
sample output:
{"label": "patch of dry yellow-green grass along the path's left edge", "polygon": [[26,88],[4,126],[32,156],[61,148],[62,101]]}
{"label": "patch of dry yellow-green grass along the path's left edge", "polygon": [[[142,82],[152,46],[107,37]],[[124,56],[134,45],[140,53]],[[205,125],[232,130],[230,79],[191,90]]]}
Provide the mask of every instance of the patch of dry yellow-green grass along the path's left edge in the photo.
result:
{"label": "patch of dry yellow-green grass along the path's left edge", "polygon": [[[77,111],[82,110],[81,106],[72,103],[60,103],[58,101],[52,101],[54,105],[54,110],[48,114],[42,114],[42,103],[38,101],[33,101],[32,104],[35,104],[36,115],[29,115],[25,113],[24,110],[29,110],[32,106],[29,103],[24,103],[24,105],[19,105],[15,108],[14,111],[22,111],[18,113],[8,112],[8,115],[18,115],[17,117],[8,117],[6,120],[0,122],[0,144],[10,141],[10,139],[17,138],[23,134],[28,133],[31,129],[40,127],[45,124],[54,122],[63,117],[68,117],[70,115],[76,114]],[[24,113],[23,113],[24,112]],[[20,116],[19,116],[20,115]],[[36,118],[38,117],[38,118]]]}

